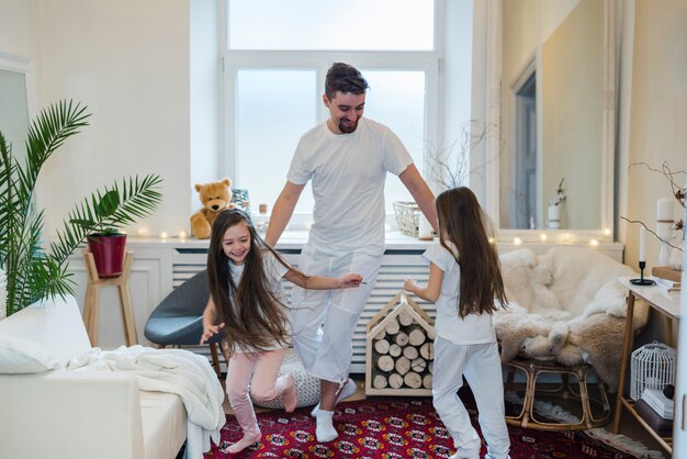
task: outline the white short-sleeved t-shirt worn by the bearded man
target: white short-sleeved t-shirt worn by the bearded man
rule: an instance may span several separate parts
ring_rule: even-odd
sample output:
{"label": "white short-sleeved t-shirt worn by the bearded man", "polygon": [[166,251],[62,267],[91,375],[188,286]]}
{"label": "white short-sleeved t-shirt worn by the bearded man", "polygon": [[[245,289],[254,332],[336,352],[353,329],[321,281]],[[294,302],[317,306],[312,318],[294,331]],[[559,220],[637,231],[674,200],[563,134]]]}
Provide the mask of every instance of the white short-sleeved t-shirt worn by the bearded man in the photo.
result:
{"label": "white short-sleeved t-shirt worn by the bearded man", "polygon": [[401,175],[413,158],[386,126],[365,117],[351,134],[334,134],[327,123],[299,142],[288,180],[313,183],[314,223],[308,246],[328,254],[384,253],[384,181]]}

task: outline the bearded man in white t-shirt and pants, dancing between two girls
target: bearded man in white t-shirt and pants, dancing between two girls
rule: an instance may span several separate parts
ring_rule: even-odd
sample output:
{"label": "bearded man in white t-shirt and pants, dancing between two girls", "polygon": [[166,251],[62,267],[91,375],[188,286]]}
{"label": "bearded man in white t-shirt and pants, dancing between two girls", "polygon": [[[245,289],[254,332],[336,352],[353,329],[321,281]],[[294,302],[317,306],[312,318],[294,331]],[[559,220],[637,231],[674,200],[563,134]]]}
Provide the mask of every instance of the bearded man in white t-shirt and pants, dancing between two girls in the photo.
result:
{"label": "bearded man in white t-shirt and pants, dancing between two girls", "polygon": [[277,244],[312,180],[314,223],[299,269],[328,277],[358,272],[367,282],[359,289],[292,292],[295,350],[322,380],[320,403],[313,410],[320,443],[338,436],[334,407],[356,392],[348,379],[351,338],[384,254],[386,172],[398,176],[437,227],[435,197],[405,146],[388,127],[362,117],[368,82],[360,71],[334,64],[325,83],[323,101],[330,116],[301,137],[266,235],[268,244]]}

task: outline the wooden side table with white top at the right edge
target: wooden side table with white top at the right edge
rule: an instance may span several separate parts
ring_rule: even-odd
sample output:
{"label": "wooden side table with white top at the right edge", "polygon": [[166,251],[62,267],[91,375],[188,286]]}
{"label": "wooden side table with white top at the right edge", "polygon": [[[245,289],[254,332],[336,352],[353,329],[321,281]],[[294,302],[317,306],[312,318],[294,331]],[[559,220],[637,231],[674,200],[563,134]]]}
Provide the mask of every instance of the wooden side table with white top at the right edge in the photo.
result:
{"label": "wooden side table with white top at the right edge", "polygon": [[[640,287],[630,283],[629,278],[618,279],[628,289],[628,315],[624,325],[624,338],[622,340],[622,352],[620,355],[620,374],[618,378],[618,395],[616,399],[616,415],[613,417],[613,434],[618,433],[620,427],[620,414],[622,408],[628,412],[646,429],[652,437],[661,445],[668,454],[673,454],[673,439],[660,436],[654,429],[638,414],[634,410],[634,402],[632,399],[624,396],[624,383],[628,372],[628,361],[632,354],[632,316],[634,315],[634,301],[641,299],[649,304],[653,312],[661,314],[665,321],[665,336],[664,340],[667,345],[675,347],[675,337],[673,336],[673,321],[679,320],[680,309],[680,292],[666,293],[660,287]],[[677,378],[678,374],[675,374]]]}

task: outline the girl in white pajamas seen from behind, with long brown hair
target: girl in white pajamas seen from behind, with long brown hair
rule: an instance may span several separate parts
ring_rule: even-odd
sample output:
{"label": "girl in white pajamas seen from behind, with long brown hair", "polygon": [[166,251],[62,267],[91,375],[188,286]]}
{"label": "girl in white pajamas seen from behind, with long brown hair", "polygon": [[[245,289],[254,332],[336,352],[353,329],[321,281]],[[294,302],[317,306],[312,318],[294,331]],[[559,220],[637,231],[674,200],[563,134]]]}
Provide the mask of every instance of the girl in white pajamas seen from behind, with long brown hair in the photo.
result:
{"label": "girl in white pajamas seen from behind, with long brown hair", "polygon": [[437,305],[432,402],[453,438],[451,459],[480,459],[481,441],[458,396],[464,376],[477,404],[487,443],[485,459],[509,458],[504,383],[492,313],[506,304],[487,219],[465,187],[437,198],[439,244],[425,251],[429,282],[406,279],[404,288]]}

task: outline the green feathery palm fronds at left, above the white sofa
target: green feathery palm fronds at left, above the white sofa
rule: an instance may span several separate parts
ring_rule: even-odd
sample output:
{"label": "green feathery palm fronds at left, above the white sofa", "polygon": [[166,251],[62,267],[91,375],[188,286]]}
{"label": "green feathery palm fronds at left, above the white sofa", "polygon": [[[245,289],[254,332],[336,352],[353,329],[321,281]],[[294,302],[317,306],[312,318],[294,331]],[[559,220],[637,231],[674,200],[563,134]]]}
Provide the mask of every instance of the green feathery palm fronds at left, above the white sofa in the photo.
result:
{"label": "green feathery palm fronds at left, above the white sofa", "polygon": [[[35,186],[45,161],[87,126],[86,107],[60,101],[43,110],[29,128],[26,160],[20,164],[0,132],[0,268],[5,272],[7,315],[52,295],[74,294],[68,258],[97,228],[119,229],[150,214],[161,201],[156,175],[122,179],[85,199],[69,213],[57,238],[44,246],[44,212]],[[0,295],[1,296],[1,295]]]}

